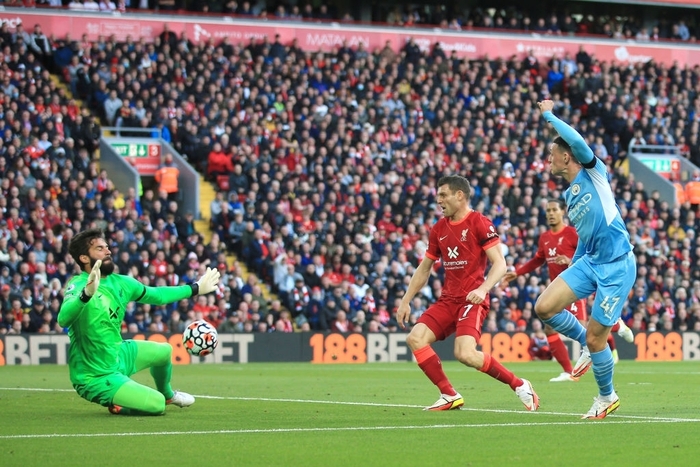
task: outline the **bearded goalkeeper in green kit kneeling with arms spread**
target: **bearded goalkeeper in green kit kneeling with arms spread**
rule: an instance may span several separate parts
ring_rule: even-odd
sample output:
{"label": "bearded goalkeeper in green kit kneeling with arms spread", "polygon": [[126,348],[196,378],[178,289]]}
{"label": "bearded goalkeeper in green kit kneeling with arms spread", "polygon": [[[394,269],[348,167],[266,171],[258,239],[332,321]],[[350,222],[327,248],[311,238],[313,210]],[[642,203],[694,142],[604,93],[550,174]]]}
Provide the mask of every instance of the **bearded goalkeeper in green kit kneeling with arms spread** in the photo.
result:
{"label": "bearded goalkeeper in green kit kneeling with arms spread", "polygon": [[[219,283],[219,271],[207,268],[191,285],[146,287],[132,277],[112,274],[112,256],[99,229],[73,237],[68,252],[83,272],[68,281],[58,322],[69,328],[68,367],[80,397],[123,415],[160,415],[166,404],[194,404],[193,396],[170,387],[170,344],[122,340],[121,324],[130,301],[165,305],[208,294]],[[146,368],[157,390],[130,378]]]}

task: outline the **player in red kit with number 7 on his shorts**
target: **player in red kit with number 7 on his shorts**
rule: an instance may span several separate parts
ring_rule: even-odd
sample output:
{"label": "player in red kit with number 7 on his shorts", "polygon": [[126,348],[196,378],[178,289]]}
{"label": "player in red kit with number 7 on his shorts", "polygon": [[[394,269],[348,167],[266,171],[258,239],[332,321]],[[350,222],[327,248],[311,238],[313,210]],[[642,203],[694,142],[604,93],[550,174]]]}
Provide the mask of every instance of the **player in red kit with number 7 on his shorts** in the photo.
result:
{"label": "player in red kit with number 7 on his shorts", "polygon": [[[411,300],[425,286],[435,261],[441,259],[445,269],[442,294],[406,338],[418,366],[440,390],[440,398],[425,410],[451,410],[464,405],[464,398],[447,379],[440,358],[430,346],[456,333],[457,360],[508,384],[525,407],[534,411],[539,407],[539,398],[530,382],[476,348],[488,313],[489,290],[503,278],[506,262],[493,223],[469,208],[470,196],[471,187],[464,177],[451,175],[438,181],[437,201],[444,217],[430,231],[428,251],[411,278],[396,317],[405,329]],[[491,268],[484,278],[487,259]]]}

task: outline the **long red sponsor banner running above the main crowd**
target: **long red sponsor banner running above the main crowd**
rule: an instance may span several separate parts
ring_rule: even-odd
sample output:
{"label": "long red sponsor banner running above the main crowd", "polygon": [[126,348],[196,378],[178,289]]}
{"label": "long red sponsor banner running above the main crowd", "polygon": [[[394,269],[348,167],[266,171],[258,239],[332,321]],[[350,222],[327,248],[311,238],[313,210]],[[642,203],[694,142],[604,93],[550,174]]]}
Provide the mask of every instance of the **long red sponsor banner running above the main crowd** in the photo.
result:
{"label": "long red sponsor banner running above the main crowd", "polygon": [[573,56],[579,51],[579,47],[583,47],[595,58],[607,62],[639,63],[654,60],[666,65],[672,65],[674,62],[681,66],[700,64],[700,47],[678,42],[654,43],[539,34],[455,32],[337,23],[290,23],[143,14],[113,16],[77,12],[69,14],[67,11],[51,11],[47,14],[41,11],[10,9],[0,12],[0,20],[8,23],[10,30],[14,30],[17,23],[24,23],[30,29],[34,24],[40,24],[49,36],[53,34],[57,38],[63,38],[69,33],[74,40],[80,40],[83,34],[87,34],[89,40],[114,35],[117,40],[131,36],[135,41],[141,37],[150,41],[163,31],[163,24],[167,22],[171,31],[178,35],[184,31],[194,43],[206,42],[209,39],[218,43],[224,37],[230,37],[233,43],[247,44],[251,39],[264,37],[272,42],[278,34],[283,44],[296,39],[298,47],[311,51],[331,51],[343,43],[352,47],[362,43],[369,51],[381,49],[388,44],[398,51],[407,40],[413,38],[421,49],[429,49],[436,42],[440,42],[448,55],[454,50],[459,57],[474,59],[485,56],[524,58],[532,51],[537,58],[547,60],[552,56],[561,57],[566,52]]}

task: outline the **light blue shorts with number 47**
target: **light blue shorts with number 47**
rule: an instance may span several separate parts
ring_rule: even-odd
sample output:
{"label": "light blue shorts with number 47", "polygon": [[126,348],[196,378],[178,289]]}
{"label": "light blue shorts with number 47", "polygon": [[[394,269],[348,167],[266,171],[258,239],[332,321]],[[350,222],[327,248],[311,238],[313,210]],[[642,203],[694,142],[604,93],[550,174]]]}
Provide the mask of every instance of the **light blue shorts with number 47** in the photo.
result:
{"label": "light blue shorts with number 47", "polygon": [[571,287],[576,297],[588,298],[595,292],[591,318],[603,326],[612,326],[622,314],[634,282],[637,262],[633,252],[604,264],[591,264],[584,255],[559,276]]}

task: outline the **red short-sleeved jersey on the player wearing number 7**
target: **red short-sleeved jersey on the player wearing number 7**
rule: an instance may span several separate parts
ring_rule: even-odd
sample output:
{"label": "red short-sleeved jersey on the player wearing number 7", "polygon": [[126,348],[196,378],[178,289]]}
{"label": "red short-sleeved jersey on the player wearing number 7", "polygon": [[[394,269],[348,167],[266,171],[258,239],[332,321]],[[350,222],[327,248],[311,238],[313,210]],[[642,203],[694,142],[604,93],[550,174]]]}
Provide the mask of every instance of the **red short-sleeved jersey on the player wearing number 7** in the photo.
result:
{"label": "red short-sleeved jersey on the player wearing number 7", "polygon": [[465,302],[467,294],[484,283],[487,256],[485,250],[500,242],[493,223],[484,215],[470,211],[463,219],[440,219],[430,230],[425,256],[442,260],[445,268],[441,300]]}

